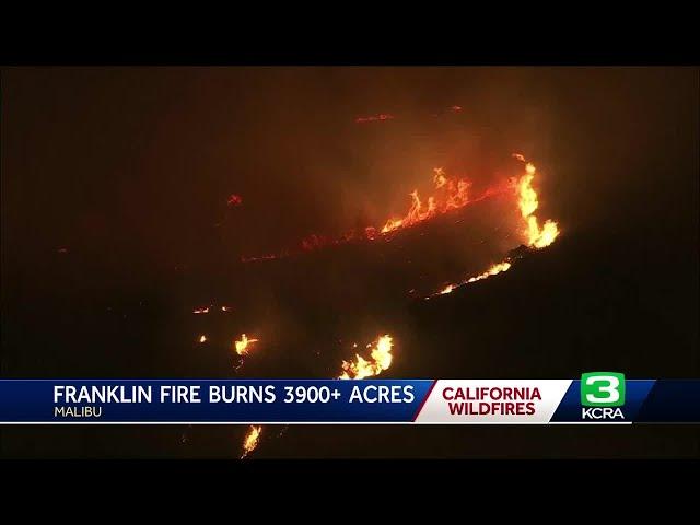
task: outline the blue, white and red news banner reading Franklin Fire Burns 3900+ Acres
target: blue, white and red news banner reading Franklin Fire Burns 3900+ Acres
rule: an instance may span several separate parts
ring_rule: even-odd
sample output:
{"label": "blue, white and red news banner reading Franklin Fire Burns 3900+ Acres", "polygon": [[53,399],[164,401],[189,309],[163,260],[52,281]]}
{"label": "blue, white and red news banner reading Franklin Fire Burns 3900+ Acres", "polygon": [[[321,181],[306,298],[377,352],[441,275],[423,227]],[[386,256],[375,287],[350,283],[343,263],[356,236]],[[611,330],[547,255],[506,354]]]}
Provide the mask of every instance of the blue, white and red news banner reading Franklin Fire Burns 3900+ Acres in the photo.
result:
{"label": "blue, white and red news banner reading Franklin Fire Burns 3900+ Acres", "polygon": [[1,424],[698,423],[700,381],[0,380]]}

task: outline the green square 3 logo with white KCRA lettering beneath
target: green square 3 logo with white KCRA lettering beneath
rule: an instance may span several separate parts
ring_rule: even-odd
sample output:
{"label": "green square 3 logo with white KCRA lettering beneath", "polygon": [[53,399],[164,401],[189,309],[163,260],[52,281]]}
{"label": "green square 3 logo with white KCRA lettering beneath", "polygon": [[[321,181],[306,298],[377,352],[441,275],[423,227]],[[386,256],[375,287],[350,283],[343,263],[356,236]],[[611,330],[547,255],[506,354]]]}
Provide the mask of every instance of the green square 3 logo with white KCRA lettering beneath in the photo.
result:
{"label": "green square 3 logo with white KCRA lettering beneath", "polygon": [[625,419],[625,374],[587,372],[581,375],[581,419]]}

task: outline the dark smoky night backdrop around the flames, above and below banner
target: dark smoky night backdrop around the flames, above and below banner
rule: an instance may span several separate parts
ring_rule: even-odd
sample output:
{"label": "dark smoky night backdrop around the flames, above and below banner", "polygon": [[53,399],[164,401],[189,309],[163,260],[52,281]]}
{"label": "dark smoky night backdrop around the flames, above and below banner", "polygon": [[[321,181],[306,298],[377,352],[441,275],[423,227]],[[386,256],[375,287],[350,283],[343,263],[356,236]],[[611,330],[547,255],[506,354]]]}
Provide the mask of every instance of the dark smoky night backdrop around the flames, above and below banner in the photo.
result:
{"label": "dark smoky night backdrop around the flames, above and below banner", "polygon": [[[324,377],[396,335],[387,377],[699,377],[697,68],[5,68],[3,377]],[[458,106],[456,110],[453,106]],[[393,118],[355,122],[385,114]],[[381,225],[432,170],[538,167],[562,235],[512,203],[396,242],[242,264]],[[230,195],[240,206],[228,206]],[[455,215],[457,217],[457,215]],[[203,318],[199,305],[231,305]],[[210,343],[196,338],[208,334]],[[257,457],[698,457],[693,427],[270,429]],[[4,457],[237,457],[244,429],[3,428]]]}

